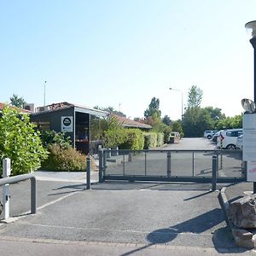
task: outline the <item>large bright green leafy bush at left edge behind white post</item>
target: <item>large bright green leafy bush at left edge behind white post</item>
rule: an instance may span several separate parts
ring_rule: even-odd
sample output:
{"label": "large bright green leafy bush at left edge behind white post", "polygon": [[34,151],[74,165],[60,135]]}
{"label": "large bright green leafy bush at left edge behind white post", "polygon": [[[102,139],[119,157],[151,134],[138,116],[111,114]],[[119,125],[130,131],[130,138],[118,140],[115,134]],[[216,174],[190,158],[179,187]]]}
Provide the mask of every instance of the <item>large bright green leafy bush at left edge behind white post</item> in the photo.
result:
{"label": "large bright green leafy bush at left edge behind white post", "polygon": [[[3,108],[0,119],[0,155],[11,160],[12,175],[37,170],[41,161],[47,158],[47,150],[40,140],[40,132],[29,116],[19,114],[15,109]],[[2,174],[2,164],[0,165]]]}

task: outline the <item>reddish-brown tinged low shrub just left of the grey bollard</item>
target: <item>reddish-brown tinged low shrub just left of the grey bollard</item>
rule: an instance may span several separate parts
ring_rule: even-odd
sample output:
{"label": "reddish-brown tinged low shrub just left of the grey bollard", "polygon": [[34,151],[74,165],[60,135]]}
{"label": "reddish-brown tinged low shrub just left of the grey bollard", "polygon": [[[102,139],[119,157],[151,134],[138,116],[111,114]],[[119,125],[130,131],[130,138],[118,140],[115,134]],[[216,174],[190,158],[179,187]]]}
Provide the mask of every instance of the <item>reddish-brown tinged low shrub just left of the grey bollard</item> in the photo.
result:
{"label": "reddish-brown tinged low shrub just left of the grey bollard", "polygon": [[58,144],[49,146],[49,157],[42,163],[47,171],[85,171],[86,156],[68,146],[61,148]]}

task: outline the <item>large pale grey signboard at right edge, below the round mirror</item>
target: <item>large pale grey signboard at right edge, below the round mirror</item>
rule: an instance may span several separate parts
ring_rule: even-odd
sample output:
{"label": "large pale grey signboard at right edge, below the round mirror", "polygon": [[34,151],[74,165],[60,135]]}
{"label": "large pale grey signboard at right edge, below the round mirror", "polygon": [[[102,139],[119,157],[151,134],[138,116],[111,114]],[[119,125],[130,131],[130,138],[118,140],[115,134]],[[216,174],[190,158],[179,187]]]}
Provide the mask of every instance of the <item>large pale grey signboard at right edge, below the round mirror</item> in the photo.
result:
{"label": "large pale grey signboard at right edge, below the round mirror", "polygon": [[245,113],[242,127],[242,160],[256,161],[256,113]]}

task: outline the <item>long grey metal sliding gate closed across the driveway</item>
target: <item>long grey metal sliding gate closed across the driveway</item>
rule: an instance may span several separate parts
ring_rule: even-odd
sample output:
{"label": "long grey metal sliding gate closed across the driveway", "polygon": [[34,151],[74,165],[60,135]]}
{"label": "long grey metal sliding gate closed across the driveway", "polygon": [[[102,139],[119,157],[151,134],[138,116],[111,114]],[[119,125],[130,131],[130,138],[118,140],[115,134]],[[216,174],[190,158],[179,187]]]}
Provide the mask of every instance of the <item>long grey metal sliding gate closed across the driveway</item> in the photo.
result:
{"label": "long grey metal sliding gate closed across the driveway", "polygon": [[102,150],[99,180],[211,183],[216,172],[232,183],[246,180],[245,166],[241,150]]}

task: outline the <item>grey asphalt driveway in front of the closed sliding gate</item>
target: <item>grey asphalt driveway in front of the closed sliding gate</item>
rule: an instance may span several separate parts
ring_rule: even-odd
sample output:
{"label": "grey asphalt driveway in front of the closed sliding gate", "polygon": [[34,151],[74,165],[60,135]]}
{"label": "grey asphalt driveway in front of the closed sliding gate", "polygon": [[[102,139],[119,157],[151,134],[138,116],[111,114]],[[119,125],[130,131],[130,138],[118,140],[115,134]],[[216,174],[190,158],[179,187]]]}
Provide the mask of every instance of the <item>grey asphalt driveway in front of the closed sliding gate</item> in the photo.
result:
{"label": "grey asphalt driveway in front of the closed sliding gate", "polygon": [[[29,182],[11,185],[17,220],[0,224],[0,255],[256,255],[236,247],[211,184],[106,182],[85,190],[84,172],[36,175],[36,214],[28,213]],[[230,197],[249,189],[218,189],[224,185]]]}

